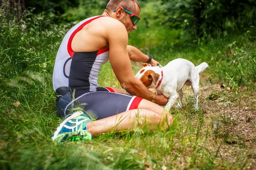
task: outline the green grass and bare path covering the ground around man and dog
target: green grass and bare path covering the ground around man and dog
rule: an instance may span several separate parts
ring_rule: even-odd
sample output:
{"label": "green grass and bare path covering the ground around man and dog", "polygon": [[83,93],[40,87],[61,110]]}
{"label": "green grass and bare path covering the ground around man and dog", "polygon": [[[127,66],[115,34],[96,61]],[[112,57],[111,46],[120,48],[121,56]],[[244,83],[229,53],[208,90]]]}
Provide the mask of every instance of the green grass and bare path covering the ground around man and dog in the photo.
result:
{"label": "green grass and bare path covering the ground around man and dog", "polygon": [[[152,19],[152,9],[159,7],[144,4],[141,15],[147,21],[141,20],[129,44],[162,65],[175,58],[195,65],[207,62],[209,68],[201,74],[200,109],[193,111],[191,89],[185,88],[184,107],[173,109],[169,130],[109,132],[92,142],[54,145],[51,140],[62,121],[55,111],[52,70],[69,26],[41,30],[35,23],[20,30],[15,23],[0,23],[1,169],[256,168],[255,33],[191,42],[180,39],[182,30],[159,26]],[[133,69],[136,73],[139,67]],[[109,62],[102,67],[99,85],[120,87]],[[215,132],[213,122],[219,123]]]}

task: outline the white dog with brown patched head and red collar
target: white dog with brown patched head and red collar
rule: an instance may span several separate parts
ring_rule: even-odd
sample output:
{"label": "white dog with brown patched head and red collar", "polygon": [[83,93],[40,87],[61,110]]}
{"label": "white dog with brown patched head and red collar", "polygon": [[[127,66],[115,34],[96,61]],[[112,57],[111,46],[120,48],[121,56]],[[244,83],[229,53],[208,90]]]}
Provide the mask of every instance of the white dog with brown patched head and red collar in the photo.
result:
{"label": "white dog with brown patched head and red collar", "polygon": [[177,107],[182,107],[182,88],[191,85],[194,93],[194,108],[198,110],[199,73],[208,67],[206,62],[196,66],[186,59],[174,59],[163,68],[151,67],[143,63],[143,67],[135,75],[147,88],[155,88],[157,94],[163,94],[169,101],[165,106],[169,111],[179,94]]}

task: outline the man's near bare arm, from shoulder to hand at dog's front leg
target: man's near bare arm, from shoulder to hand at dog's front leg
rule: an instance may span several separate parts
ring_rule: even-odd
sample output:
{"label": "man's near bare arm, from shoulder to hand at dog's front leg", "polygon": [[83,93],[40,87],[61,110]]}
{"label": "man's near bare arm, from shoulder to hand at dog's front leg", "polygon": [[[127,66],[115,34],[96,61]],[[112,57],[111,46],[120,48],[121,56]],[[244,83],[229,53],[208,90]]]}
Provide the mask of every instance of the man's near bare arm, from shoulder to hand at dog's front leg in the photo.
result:
{"label": "man's near bare arm, from shoulder to hand at dog's front leg", "polygon": [[166,105],[168,100],[165,96],[153,94],[134,76],[127,51],[128,34],[122,23],[115,22],[110,26],[107,39],[110,49],[109,61],[121,87],[131,95]]}

